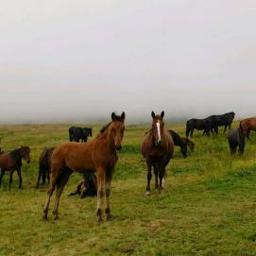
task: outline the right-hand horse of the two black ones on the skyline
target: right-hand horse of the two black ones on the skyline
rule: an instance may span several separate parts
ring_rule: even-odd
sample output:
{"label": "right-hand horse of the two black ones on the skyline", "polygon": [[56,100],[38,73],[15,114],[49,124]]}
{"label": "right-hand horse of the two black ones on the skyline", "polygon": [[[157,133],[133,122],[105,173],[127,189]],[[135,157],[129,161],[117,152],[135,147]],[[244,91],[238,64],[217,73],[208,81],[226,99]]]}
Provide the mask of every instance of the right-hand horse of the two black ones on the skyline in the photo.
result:
{"label": "right-hand horse of the two black ones on the skyline", "polygon": [[[211,132],[215,132],[215,134],[218,133],[218,127],[224,126],[224,133],[226,132],[226,129],[229,127],[231,128],[231,123],[234,119],[234,112],[228,112],[224,114],[216,114],[216,115],[210,115],[205,120],[209,123],[209,127]],[[206,130],[203,134],[205,134]]]}

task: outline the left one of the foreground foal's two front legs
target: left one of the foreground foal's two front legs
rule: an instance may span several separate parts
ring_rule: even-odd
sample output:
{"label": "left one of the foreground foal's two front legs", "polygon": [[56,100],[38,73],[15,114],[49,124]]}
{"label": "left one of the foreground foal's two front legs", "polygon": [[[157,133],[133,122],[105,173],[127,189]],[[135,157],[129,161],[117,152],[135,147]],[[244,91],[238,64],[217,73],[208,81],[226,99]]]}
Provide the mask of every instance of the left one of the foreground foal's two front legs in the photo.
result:
{"label": "left one of the foreground foal's two front legs", "polygon": [[102,200],[104,196],[104,186],[105,186],[105,169],[104,168],[98,168],[97,169],[97,221],[101,222],[103,221],[102,218]]}

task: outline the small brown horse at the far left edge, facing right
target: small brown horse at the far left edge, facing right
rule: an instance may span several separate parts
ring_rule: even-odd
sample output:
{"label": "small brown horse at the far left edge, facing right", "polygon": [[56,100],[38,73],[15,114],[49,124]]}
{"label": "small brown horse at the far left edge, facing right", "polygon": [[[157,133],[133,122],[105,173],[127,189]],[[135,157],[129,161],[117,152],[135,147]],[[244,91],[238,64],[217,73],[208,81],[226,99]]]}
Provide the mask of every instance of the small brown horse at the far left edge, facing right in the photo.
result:
{"label": "small brown horse at the far left edge, facing right", "polygon": [[1,151],[0,152],[0,187],[3,176],[6,171],[9,171],[9,188],[12,183],[12,174],[14,171],[17,171],[19,176],[19,188],[22,187],[22,160],[25,159],[27,163],[30,162],[30,148],[28,146],[22,146],[18,149],[14,149],[10,152]]}

